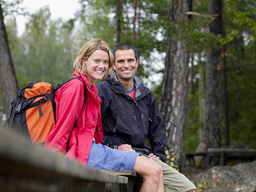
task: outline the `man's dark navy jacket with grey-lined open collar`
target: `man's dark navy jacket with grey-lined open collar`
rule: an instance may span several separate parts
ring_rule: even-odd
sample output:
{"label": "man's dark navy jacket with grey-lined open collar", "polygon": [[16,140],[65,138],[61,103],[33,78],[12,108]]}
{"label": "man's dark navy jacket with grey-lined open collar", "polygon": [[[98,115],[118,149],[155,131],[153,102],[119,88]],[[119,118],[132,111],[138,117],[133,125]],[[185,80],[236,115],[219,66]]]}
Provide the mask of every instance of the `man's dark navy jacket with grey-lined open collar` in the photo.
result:
{"label": "man's dark navy jacket with grey-lined open collar", "polygon": [[[98,95],[102,100],[101,115],[104,138],[102,144],[111,148],[129,144],[134,150],[151,152],[166,159],[164,148],[166,133],[163,119],[153,93],[134,76],[136,87],[135,100],[118,81],[115,72],[105,81],[96,84]],[[145,138],[151,148],[145,145]]]}

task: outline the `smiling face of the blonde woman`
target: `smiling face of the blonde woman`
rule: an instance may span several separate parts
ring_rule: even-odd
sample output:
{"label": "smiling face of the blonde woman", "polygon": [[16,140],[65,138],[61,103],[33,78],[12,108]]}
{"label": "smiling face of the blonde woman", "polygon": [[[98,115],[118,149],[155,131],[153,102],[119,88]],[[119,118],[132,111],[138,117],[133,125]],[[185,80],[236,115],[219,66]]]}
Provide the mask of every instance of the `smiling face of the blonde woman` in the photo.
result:
{"label": "smiling face of the blonde woman", "polygon": [[108,52],[101,49],[93,51],[93,53],[85,61],[87,70],[87,79],[90,85],[98,79],[102,79],[108,72],[109,55]]}

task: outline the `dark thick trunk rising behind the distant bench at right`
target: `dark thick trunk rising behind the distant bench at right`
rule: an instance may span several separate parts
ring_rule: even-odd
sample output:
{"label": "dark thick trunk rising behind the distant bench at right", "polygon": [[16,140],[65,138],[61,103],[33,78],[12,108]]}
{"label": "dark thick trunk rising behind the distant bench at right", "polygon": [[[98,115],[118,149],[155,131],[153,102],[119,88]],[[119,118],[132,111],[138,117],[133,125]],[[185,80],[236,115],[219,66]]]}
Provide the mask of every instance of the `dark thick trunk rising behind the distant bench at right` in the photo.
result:
{"label": "dark thick trunk rising behind the distant bench at right", "polygon": [[[210,32],[221,35],[221,0],[209,0],[209,15],[218,14]],[[221,49],[211,47],[206,65],[205,120],[202,141],[209,148],[221,147]]]}

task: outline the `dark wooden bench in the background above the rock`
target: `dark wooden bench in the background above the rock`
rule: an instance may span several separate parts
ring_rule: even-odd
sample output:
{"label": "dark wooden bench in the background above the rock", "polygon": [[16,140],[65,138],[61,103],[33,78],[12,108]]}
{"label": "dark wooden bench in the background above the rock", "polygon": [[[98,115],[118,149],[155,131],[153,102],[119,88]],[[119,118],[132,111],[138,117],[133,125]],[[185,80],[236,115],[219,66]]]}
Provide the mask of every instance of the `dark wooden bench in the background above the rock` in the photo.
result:
{"label": "dark wooden bench in the background above the rock", "polygon": [[196,166],[195,156],[207,157],[209,166],[216,165],[212,163],[214,157],[220,158],[219,165],[227,165],[228,158],[256,158],[256,150],[253,148],[208,148],[206,152],[186,152],[183,157],[181,170],[184,170],[186,167],[187,160],[190,166]]}

